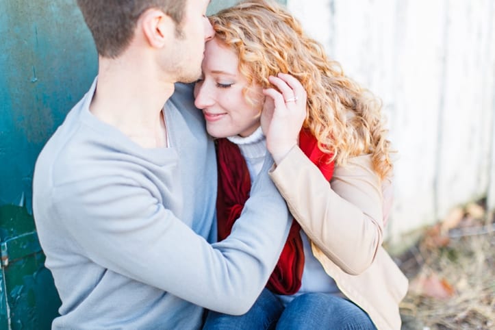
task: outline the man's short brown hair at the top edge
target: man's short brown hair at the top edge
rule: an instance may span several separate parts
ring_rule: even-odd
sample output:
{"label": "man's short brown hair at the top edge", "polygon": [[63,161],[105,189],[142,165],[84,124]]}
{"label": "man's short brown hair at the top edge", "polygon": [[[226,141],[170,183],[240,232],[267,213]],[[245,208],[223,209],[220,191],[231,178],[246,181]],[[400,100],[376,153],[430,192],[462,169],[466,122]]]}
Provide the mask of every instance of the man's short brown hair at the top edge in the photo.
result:
{"label": "man's short brown hair at the top edge", "polygon": [[134,36],[140,15],[157,8],[180,25],[187,0],[77,0],[98,53],[116,58]]}

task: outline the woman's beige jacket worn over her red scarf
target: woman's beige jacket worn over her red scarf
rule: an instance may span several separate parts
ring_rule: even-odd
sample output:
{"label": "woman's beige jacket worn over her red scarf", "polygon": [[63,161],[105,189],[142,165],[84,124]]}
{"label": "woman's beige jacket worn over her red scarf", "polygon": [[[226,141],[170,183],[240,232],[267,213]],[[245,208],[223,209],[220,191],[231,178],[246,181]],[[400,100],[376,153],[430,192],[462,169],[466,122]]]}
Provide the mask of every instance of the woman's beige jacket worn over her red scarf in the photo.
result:
{"label": "woman's beige jacket worn over her red scarf", "polygon": [[398,303],[407,292],[407,278],[381,247],[383,209],[392,196],[383,198],[370,155],[335,166],[329,184],[294,147],[270,176],[340,291],[378,329],[401,329]]}

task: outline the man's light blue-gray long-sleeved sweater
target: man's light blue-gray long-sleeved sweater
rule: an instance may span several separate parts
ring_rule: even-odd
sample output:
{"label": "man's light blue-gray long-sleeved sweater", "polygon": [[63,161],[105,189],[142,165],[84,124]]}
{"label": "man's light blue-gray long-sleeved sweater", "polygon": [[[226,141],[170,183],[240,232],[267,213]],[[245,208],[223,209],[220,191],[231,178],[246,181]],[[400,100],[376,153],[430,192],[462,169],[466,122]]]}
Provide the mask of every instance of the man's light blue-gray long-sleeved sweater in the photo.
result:
{"label": "man's light blue-gray long-sleeved sweater", "polygon": [[170,147],[143,149],[89,111],[96,79],[47,142],[34,217],[62,299],[53,328],[196,329],[243,314],[290,227],[266,158],[231,236],[216,237],[216,160],[190,86],[164,107]]}

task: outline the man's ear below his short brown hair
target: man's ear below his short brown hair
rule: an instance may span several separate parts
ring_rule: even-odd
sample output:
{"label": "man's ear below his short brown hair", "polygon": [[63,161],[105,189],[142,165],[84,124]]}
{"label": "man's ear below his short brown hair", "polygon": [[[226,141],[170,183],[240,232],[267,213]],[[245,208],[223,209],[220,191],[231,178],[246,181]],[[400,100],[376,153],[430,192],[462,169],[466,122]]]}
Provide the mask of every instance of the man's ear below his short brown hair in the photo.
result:
{"label": "man's ear below his short brown hair", "polygon": [[151,47],[163,48],[175,35],[175,21],[162,10],[150,8],[142,13],[138,24]]}

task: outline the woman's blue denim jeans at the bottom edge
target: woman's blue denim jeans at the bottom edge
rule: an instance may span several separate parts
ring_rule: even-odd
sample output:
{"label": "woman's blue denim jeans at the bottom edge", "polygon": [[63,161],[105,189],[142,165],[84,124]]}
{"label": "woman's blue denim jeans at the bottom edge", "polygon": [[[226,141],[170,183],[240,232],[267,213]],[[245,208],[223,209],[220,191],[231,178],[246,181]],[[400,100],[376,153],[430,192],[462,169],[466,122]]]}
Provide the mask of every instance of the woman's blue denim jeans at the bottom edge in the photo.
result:
{"label": "woman's blue denim jeans at the bottom edge", "polygon": [[285,309],[264,289],[253,307],[241,316],[208,312],[203,329],[376,329],[368,314],[340,296],[307,293]]}

